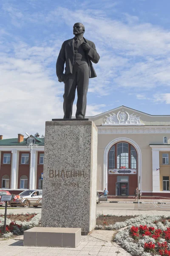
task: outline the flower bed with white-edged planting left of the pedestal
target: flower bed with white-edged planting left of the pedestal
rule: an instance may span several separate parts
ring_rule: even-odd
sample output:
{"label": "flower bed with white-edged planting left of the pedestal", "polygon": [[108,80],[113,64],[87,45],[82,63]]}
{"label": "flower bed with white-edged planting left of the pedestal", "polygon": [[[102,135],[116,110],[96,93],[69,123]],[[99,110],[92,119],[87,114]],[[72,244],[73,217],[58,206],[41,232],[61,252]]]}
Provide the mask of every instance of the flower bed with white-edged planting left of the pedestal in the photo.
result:
{"label": "flower bed with white-edged planting left of the pedestal", "polygon": [[41,214],[34,212],[14,215],[9,213],[6,218],[6,234],[3,234],[4,220],[4,215],[0,215],[0,237],[8,238],[12,235],[22,235],[24,230],[28,230],[31,227],[40,226]]}

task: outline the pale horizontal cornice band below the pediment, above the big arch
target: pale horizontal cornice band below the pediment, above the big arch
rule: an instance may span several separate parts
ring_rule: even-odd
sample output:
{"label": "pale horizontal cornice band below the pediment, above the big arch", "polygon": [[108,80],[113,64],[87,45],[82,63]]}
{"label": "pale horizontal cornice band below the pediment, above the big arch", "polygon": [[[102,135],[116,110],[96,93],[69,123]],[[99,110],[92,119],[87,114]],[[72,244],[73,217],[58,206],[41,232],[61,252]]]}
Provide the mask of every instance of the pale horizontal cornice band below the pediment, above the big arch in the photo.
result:
{"label": "pale horizontal cornice band below the pediment, above the big arch", "polygon": [[97,126],[98,134],[170,134],[170,125]]}

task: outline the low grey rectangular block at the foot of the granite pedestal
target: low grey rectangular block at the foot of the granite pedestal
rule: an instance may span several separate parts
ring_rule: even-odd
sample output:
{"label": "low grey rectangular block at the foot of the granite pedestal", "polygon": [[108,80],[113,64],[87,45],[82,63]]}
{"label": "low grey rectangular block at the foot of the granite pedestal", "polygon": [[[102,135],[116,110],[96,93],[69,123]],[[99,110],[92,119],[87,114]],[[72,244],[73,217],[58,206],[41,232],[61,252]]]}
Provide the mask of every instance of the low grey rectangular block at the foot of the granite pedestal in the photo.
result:
{"label": "low grey rectangular block at the foot of the granite pedestal", "polygon": [[81,228],[33,227],[24,231],[24,246],[77,247]]}

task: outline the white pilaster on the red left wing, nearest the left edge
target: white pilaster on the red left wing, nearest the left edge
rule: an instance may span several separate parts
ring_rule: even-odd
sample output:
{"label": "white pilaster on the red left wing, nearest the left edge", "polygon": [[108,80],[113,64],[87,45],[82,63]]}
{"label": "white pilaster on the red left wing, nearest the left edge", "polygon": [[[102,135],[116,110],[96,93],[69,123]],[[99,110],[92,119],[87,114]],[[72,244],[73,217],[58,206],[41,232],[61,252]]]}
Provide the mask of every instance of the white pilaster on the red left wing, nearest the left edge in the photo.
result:
{"label": "white pilaster on the red left wing, nearest the left edge", "polygon": [[17,188],[17,150],[12,150],[11,189]]}

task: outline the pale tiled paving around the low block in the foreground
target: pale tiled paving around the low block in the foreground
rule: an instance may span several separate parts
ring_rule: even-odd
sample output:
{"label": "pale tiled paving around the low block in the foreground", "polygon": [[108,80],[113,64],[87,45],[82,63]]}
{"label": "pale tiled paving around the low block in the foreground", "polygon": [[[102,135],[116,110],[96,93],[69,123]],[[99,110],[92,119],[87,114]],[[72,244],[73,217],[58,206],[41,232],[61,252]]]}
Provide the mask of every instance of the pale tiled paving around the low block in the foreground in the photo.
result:
{"label": "pale tiled paving around the low block in the foreground", "polygon": [[0,251],[4,256],[130,256],[118,244],[110,241],[113,233],[114,231],[94,230],[90,236],[82,236],[82,241],[76,248],[26,247],[23,246],[23,240],[9,239],[0,241]]}

